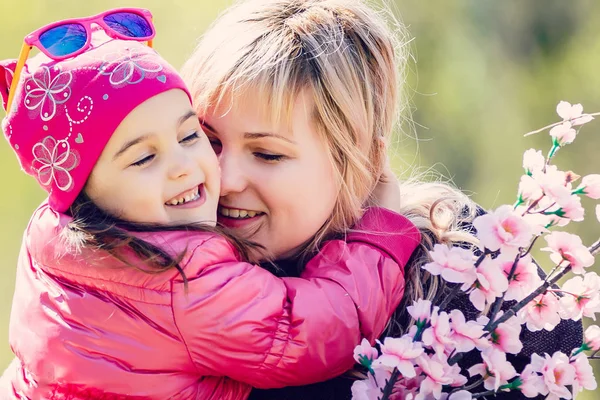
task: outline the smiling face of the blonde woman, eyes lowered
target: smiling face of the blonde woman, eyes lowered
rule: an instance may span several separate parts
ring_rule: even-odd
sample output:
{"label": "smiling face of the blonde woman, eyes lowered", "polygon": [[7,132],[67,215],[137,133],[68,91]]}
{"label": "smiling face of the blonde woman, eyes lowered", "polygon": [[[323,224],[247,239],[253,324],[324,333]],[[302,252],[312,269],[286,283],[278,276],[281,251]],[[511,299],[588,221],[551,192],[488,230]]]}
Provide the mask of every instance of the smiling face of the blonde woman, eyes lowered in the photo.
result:
{"label": "smiling face of the blonde woman, eyes lowered", "polygon": [[273,126],[260,99],[244,96],[226,112],[201,117],[221,166],[218,221],[275,258],[293,255],[313,237],[339,191],[313,109],[303,93],[291,123]]}

